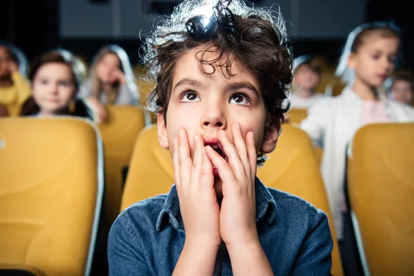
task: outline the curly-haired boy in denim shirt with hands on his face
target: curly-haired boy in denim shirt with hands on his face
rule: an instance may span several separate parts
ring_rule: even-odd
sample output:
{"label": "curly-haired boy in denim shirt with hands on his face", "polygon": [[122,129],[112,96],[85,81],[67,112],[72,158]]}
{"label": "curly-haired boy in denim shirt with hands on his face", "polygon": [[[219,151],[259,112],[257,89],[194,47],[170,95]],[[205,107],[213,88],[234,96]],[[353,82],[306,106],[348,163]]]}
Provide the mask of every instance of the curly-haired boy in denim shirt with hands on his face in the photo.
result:
{"label": "curly-haired boy in denim shirt with hands on his face", "polygon": [[256,177],[288,110],[279,10],[186,0],[146,42],[149,106],[175,185],[119,215],[110,275],[329,275],[326,215]]}

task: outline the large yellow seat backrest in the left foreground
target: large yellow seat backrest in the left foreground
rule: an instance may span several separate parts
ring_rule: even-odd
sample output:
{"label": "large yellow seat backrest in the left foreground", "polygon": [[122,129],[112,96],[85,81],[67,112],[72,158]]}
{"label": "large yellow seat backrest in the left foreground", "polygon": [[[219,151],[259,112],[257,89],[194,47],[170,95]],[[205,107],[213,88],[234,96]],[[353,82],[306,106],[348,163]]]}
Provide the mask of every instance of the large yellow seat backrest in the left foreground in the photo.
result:
{"label": "large yellow seat backrest in the left foreground", "polygon": [[88,275],[103,195],[99,132],[85,119],[0,119],[0,263]]}

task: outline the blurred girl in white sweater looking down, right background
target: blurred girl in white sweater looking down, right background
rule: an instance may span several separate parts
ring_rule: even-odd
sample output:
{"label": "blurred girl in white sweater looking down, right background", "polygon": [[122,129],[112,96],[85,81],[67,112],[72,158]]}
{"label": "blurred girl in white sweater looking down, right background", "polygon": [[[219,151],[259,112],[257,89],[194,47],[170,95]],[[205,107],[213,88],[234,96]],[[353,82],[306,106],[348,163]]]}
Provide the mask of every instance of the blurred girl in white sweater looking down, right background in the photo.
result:
{"label": "blurred girl in white sweater looking down, right background", "polygon": [[336,72],[347,83],[346,88],[337,97],[315,103],[301,124],[315,144],[324,148],[322,177],[339,239],[343,232],[346,148],[353,135],[366,124],[414,121],[413,108],[390,101],[382,93],[399,48],[399,32],[389,23],[365,23],[355,28],[348,35]]}

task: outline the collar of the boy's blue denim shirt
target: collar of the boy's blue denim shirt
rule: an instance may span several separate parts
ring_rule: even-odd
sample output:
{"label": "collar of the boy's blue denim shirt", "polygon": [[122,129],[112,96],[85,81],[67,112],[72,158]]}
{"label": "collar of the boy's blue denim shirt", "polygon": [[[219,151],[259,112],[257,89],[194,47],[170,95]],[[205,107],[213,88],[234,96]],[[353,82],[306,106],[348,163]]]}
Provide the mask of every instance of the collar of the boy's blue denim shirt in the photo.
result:
{"label": "collar of the boy's blue denim shirt", "polygon": [[[273,224],[276,217],[275,199],[273,199],[273,196],[270,194],[268,189],[257,177],[255,179],[255,193],[256,223],[266,217],[268,219],[268,224]],[[164,205],[162,206],[162,210],[158,215],[157,224],[155,226],[157,231],[161,230],[167,222],[169,222],[176,230],[179,230],[183,226],[181,221],[181,213],[179,211],[177,188],[175,185],[172,185],[170,193],[168,193],[166,201],[164,201]]]}

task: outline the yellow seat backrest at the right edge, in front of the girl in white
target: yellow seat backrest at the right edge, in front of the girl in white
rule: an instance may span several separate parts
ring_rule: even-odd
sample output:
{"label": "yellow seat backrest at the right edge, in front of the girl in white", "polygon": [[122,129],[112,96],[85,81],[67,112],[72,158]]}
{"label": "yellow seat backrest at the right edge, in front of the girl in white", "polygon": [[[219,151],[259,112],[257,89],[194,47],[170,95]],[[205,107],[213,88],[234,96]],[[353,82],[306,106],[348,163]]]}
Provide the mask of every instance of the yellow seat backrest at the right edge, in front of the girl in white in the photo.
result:
{"label": "yellow seat backrest at the right edge, in front of the girl in white", "polygon": [[414,124],[373,124],[353,139],[348,195],[371,275],[413,275],[413,137]]}

